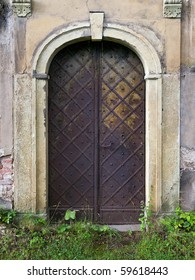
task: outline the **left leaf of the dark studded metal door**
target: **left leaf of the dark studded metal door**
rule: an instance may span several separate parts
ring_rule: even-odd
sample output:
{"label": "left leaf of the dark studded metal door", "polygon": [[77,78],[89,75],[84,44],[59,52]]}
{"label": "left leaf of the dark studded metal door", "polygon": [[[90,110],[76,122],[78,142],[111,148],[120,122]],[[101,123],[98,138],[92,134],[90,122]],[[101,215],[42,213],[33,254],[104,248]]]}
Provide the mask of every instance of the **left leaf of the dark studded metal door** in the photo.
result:
{"label": "left leaf of the dark studded metal door", "polygon": [[62,50],[49,81],[49,209],[94,207],[94,75],[88,43]]}

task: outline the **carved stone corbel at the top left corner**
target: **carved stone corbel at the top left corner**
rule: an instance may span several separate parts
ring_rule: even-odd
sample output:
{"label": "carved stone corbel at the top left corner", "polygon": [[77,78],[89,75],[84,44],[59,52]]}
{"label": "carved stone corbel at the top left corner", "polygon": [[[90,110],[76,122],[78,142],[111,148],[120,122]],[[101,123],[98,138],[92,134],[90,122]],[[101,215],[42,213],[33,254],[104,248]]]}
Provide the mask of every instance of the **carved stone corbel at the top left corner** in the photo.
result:
{"label": "carved stone corbel at the top left corner", "polygon": [[13,0],[12,8],[18,17],[31,16],[32,0]]}

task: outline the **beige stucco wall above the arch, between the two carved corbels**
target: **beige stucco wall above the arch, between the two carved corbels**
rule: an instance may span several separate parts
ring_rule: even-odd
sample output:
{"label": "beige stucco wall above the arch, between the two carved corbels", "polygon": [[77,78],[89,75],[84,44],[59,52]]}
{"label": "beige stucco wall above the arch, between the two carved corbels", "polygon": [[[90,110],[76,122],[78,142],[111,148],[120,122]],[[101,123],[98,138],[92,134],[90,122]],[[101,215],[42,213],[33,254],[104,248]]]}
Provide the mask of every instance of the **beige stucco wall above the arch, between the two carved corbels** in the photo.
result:
{"label": "beige stucco wall above the arch, between the two carved corbels", "polygon": [[[34,1],[33,15],[26,24],[26,63],[29,67],[35,49],[49,34],[60,30],[60,27],[75,22],[89,21],[90,11],[103,11],[105,24],[120,23],[132,29],[139,29],[151,40],[160,52],[162,64],[166,72],[178,71],[180,67],[180,19],[163,18],[163,1],[153,0],[123,0],[112,1],[71,0],[66,2]],[[59,9],[60,7],[60,9]],[[40,28],[44,26],[44,28]],[[147,32],[146,32],[147,28]],[[164,44],[165,49],[159,49],[155,36]]]}

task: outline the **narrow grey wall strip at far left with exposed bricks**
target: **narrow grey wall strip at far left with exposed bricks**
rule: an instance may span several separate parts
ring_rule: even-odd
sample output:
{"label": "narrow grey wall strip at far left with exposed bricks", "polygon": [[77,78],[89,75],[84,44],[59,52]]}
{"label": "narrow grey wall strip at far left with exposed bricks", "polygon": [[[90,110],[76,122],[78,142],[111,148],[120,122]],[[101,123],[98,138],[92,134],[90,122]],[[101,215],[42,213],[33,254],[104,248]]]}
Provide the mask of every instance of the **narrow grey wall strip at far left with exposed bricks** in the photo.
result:
{"label": "narrow grey wall strip at far left with exposed bricks", "polygon": [[1,1],[0,11],[0,205],[13,202],[13,18],[11,1]]}

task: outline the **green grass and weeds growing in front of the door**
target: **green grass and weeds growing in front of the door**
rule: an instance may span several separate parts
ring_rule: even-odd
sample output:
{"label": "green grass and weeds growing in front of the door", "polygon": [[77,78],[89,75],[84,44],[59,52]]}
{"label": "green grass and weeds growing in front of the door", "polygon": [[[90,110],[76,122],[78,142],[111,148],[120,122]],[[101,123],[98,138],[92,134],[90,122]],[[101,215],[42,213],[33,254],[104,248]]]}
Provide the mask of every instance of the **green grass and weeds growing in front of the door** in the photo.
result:
{"label": "green grass and weeds growing in front of the door", "polygon": [[[165,223],[166,225],[166,223]],[[0,234],[1,260],[192,260],[194,231],[157,226],[120,233],[87,222],[47,225],[39,219]]]}

